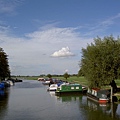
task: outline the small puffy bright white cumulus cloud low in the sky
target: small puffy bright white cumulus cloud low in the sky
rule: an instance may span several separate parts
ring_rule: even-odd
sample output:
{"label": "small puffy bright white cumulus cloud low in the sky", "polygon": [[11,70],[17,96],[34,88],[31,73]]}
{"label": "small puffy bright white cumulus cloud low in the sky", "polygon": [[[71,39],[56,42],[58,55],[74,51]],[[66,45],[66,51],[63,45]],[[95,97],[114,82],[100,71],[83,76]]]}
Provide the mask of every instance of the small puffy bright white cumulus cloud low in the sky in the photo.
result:
{"label": "small puffy bright white cumulus cloud low in the sky", "polygon": [[75,56],[72,52],[70,52],[69,47],[63,47],[61,50],[58,50],[54,52],[52,57],[69,57],[69,56]]}

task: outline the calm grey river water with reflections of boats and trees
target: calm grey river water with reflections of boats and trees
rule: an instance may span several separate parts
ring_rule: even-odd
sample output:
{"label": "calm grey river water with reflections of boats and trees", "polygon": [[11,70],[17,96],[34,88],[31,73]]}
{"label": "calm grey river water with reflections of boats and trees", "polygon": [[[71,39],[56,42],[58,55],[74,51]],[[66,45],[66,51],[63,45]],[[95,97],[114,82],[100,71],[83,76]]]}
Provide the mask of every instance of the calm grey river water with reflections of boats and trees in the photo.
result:
{"label": "calm grey river water with reflections of boats and trees", "polygon": [[86,96],[55,96],[39,81],[26,80],[0,96],[0,120],[120,120],[120,105],[101,106]]}

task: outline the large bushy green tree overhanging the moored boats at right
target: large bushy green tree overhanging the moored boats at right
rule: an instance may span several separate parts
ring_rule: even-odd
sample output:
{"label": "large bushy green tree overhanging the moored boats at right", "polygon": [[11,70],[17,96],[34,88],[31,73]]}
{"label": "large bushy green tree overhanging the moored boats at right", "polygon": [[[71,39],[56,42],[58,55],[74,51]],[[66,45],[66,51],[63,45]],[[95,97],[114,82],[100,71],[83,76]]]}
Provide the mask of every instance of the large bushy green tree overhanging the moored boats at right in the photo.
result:
{"label": "large bushy green tree overhanging the moored boats at right", "polygon": [[89,87],[101,87],[120,76],[120,39],[97,37],[94,44],[82,49],[80,67]]}

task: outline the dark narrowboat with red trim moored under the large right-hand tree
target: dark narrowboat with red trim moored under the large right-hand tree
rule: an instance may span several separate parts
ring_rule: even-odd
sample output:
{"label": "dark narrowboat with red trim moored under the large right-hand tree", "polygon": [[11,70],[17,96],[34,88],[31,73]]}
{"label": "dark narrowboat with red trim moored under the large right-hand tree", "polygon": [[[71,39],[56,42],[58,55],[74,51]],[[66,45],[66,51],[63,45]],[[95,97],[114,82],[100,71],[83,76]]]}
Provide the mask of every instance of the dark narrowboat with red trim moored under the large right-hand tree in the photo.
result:
{"label": "dark narrowboat with red trim moored under the large right-hand tree", "polygon": [[108,103],[110,102],[110,91],[99,88],[88,88],[87,98],[98,103]]}

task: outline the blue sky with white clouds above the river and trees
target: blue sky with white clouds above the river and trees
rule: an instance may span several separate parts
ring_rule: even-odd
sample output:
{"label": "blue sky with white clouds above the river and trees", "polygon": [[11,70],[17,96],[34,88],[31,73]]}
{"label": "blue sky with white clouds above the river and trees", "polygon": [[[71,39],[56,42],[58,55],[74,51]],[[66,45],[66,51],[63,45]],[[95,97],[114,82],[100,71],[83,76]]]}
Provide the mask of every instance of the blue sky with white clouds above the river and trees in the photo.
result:
{"label": "blue sky with white clouds above the river and trees", "polygon": [[77,74],[82,48],[120,35],[120,0],[0,0],[11,75]]}

